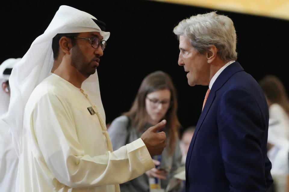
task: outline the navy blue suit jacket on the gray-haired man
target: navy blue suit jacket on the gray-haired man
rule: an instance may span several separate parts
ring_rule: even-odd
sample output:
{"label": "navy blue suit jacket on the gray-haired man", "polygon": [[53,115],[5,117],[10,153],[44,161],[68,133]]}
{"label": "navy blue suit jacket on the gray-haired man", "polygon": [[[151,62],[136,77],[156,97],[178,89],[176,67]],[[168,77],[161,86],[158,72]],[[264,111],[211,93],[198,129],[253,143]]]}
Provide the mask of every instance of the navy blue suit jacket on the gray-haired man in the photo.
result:
{"label": "navy blue suit jacket on the gray-haired man", "polygon": [[188,192],[261,192],[272,184],[269,112],[259,84],[238,62],[214,82],[186,159]]}

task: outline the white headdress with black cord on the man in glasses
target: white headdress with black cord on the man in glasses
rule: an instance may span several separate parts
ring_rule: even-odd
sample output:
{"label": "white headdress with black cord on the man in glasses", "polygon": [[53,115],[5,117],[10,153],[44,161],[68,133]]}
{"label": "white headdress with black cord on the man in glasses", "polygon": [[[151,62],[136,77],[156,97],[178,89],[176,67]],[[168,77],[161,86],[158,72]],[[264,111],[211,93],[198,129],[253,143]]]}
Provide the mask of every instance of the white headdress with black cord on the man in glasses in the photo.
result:
{"label": "white headdress with black cord on the man in glasses", "polygon": [[[49,76],[53,65],[52,38],[58,33],[99,32],[107,40],[110,33],[101,31],[92,19],[96,18],[89,13],[60,6],[45,32],[33,41],[30,49],[13,68],[9,79],[11,102],[4,121],[12,131],[18,157],[21,153],[24,107],[34,88]],[[105,121],[97,73],[82,83],[82,89],[88,92]]]}

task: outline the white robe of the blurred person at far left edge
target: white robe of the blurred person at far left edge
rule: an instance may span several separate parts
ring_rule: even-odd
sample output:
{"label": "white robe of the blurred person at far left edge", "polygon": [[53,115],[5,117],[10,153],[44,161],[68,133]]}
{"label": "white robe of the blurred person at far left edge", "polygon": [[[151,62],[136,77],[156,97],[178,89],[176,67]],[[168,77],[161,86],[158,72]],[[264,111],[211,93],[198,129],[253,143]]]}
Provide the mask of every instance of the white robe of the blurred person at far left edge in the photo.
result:
{"label": "white robe of the blurred person at far left edge", "polygon": [[0,191],[14,192],[18,170],[18,157],[12,145],[8,125],[0,117]]}

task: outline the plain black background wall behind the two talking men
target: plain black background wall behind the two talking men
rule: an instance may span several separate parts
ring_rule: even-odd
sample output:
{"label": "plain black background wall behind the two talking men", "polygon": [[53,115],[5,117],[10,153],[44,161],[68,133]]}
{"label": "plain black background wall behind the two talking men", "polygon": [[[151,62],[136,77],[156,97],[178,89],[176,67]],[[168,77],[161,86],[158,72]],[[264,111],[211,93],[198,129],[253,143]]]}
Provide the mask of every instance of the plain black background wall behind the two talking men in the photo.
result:
{"label": "plain black background wall behind the two talking men", "polygon": [[[107,122],[129,110],[142,79],[155,70],[172,76],[178,91],[179,119],[184,128],[196,125],[207,86],[190,87],[178,66],[179,43],[172,33],[179,21],[212,10],[153,1],[6,2],[0,8],[1,54],[22,57],[41,35],[60,5],[94,15],[111,32],[98,67]],[[235,23],[238,60],[257,81],[277,75],[287,86],[289,21],[225,12]]]}

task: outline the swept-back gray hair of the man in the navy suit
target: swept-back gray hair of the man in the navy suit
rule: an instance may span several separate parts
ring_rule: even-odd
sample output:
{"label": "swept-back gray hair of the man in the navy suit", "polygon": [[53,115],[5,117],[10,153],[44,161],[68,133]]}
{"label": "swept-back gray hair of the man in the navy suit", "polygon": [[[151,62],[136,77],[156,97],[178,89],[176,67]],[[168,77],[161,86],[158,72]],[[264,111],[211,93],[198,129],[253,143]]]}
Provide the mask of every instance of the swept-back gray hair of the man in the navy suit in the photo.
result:
{"label": "swept-back gray hair of the man in the navy suit", "polygon": [[233,21],[216,11],[191,16],[179,22],[173,31],[178,39],[180,35],[190,39],[191,45],[200,54],[215,45],[223,61],[237,60],[236,31]]}

